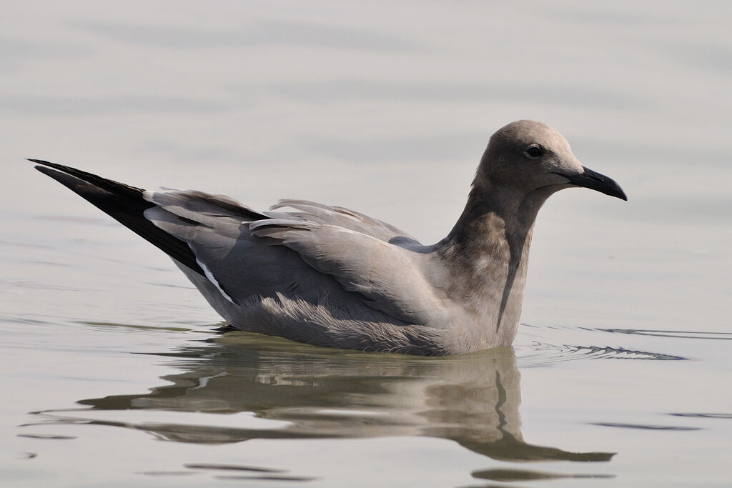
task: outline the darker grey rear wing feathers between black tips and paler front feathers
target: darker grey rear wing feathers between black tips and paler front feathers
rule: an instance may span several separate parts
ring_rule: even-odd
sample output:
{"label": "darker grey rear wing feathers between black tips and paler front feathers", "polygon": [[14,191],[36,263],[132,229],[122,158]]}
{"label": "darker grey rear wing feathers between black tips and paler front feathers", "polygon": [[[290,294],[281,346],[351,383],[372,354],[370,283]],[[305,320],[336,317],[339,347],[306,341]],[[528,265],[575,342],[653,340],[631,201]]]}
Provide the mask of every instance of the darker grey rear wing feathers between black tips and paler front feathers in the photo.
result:
{"label": "darker grey rear wing feathers between black tips and paler front feathers", "polygon": [[250,222],[268,221],[265,214],[225,195],[191,190],[148,191],[145,198],[155,204],[145,211],[146,219],[186,242],[206,278],[234,304],[277,293],[314,304],[324,294],[340,301],[354,299],[343,293],[335,279],[312,269],[295,252],[273,248],[253,236]]}

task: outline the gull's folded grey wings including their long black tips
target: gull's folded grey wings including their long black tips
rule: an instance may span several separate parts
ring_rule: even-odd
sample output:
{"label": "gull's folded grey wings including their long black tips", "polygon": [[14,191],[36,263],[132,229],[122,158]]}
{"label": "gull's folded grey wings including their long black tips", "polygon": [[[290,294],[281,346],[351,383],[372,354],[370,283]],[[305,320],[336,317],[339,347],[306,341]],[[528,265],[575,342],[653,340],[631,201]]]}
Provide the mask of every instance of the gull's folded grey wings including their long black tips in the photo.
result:
{"label": "gull's folded grey wings including their long black tips", "polygon": [[[354,311],[354,318],[366,306],[394,325],[441,322],[445,299],[430,283],[436,269],[429,253],[410,250],[421,246],[386,222],[306,200],[281,200],[272,211],[259,212],[225,195],[150,192],[34,162],[176,263],[206,277],[235,306],[286,296],[316,306],[335,304],[346,315]],[[284,206],[295,211],[276,211]]]}

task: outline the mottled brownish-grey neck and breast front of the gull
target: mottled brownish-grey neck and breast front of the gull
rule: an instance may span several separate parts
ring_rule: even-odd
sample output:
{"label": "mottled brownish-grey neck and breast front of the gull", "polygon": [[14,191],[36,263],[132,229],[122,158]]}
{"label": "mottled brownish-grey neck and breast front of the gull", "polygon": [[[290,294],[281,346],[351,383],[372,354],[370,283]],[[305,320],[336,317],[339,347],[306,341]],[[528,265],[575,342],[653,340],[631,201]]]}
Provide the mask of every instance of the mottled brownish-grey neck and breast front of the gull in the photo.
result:
{"label": "mottled brownish-grey neck and breast front of the gull", "polygon": [[463,214],[440,243],[438,255],[454,277],[447,293],[468,304],[479,326],[474,339],[487,347],[510,345],[518,331],[534,221],[551,193],[474,184]]}

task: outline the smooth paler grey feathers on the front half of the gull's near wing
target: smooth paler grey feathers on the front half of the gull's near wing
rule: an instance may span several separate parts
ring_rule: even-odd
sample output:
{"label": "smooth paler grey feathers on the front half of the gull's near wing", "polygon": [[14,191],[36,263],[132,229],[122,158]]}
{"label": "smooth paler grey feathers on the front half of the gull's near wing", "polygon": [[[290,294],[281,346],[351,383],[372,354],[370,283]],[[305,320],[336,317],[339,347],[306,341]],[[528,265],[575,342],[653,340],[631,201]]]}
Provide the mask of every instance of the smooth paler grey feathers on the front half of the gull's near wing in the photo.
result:
{"label": "smooth paler grey feathers on the front half of the gull's near wing", "polygon": [[296,219],[261,220],[250,228],[273,246],[296,251],[305,263],[358,293],[373,309],[405,323],[444,322],[446,300],[427,277],[434,264],[427,254],[348,228]]}

